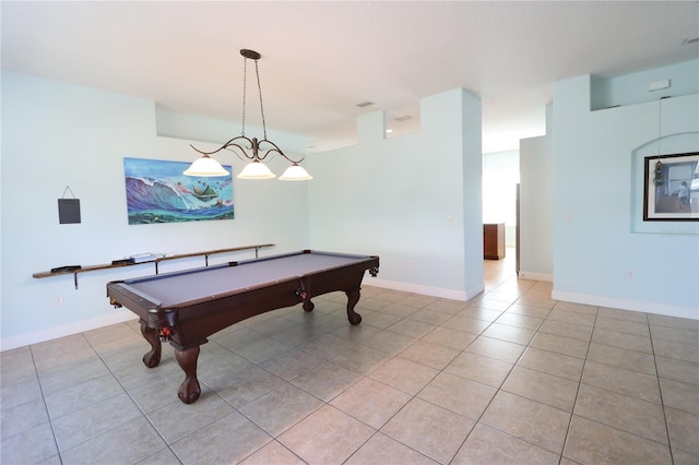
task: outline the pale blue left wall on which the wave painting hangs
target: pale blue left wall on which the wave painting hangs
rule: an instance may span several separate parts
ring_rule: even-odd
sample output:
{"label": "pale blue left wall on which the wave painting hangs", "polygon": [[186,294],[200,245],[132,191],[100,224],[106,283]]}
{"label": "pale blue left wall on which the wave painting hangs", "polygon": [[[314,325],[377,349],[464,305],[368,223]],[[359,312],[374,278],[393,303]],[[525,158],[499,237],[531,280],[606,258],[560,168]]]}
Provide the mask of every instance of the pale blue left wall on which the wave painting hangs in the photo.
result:
{"label": "pale blue left wall on which the wave painting hangs", "polygon": [[[2,72],[1,85],[3,349],[132,318],[108,305],[105,285],[153,271],[142,265],[84,273],[79,290],[72,275],[36,279],[33,273],[66,264],[109,263],[149,251],[276,243],[262,251],[272,254],[309,247],[308,191],[303,182],[234,178],[233,220],[129,226],[123,157],[189,162],[197,157],[190,141],[157,136],[155,105],[149,99],[11,72]],[[218,140],[233,135],[235,129]],[[305,152],[300,138],[282,138],[281,143],[292,152]],[[244,163],[230,154],[218,159],[233,165],[234,174],[242,169]],[[280,174],[283,164],[274,165]],[[81,201],[81,224],[59,225],[57,199],[66,186]],[[253,252],[234,257],[212,262],[250,258]],[[194,265],[203,265],[203,260],[169,262],[165,271]]]}

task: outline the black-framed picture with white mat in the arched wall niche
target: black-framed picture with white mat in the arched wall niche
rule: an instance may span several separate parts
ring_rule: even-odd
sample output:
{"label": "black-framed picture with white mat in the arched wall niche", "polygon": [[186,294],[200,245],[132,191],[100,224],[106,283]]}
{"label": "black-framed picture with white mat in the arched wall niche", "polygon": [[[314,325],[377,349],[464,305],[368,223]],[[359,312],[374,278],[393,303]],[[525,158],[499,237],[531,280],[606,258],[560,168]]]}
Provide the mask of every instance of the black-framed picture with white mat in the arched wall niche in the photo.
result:
{"label": "black-framed picture with white mat in the arched wall niche", "polygon": [[699,222],[699,152],[643,158],[643,220]]}

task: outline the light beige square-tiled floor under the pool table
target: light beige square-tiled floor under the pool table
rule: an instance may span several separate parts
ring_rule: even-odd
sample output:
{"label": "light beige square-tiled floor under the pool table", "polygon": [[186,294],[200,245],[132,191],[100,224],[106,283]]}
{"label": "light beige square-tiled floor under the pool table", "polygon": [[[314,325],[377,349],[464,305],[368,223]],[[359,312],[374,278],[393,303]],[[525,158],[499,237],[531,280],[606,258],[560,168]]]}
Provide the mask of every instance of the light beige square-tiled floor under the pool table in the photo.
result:
{"label": "light beige square-tiled floor under the pool table", "polygon": [[2,353],[1,463],[697,464],[699,321],[550,299],[485,262],[459,302],[370,287],[202,346],[177,398],[134,322]]}

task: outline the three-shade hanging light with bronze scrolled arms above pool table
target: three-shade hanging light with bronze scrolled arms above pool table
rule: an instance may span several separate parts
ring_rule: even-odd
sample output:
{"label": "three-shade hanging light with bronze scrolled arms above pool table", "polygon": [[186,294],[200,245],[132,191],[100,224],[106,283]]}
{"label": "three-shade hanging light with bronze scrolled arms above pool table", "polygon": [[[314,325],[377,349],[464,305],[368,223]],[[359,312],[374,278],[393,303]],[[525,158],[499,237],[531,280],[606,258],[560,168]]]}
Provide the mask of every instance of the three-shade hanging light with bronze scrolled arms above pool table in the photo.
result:
{"label": "three-shade hanging light with bronze scrolled arms above pool table", "polygon": [[[229,172],[223,166],[221,166],[218,162],[210,156],[223,150],[228,150],[235,153],[240,159],[249,162],[248,165],[246,165],[246,167],[242,169],[242,171],[240,171],[240,174],[237,176],[237,178],[239,179],[276,178],[276,175],[274,175],[263,163],[268,157],[271,158],[274,155],[281,155],[292,164],[292,166],[286,168],[284,174],[280,177],[280,180],[306,181],[309,179],[313,179],[313,177],[310,176],[308,171],[306,171],[306,169],[298,165],[304,160],[304,158],[299,159],[298,162],[289,158],[274,142],[266,139],[266,124],[264,122],[264,108],[262,106],[262,87],[260,85],[260,72],[258,69],[258,60],[261,56],[257,51],[248,49],[240,50],[240,55],[242,55],[242,57],[245,58],[242,71],[242,130],[240,131],[240,135],[233,138],[228,142],[223,144],[221,148],[217,148],[213,152],[203,152],[190,144],[193,150],[202,154],[202,157],[192,163],[183,174],[186,176],[203,177],[229,175]],[[258,94],[260,96],[260,114],[262,116],[263,132],[263,139],[261,141],[258,141],[257,138],[250,139],[245,135],[245,103],[248,78],[248,59],[254,61],[254,74],[258,80]]]}

